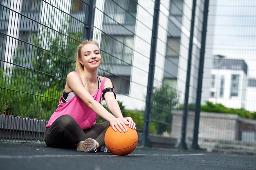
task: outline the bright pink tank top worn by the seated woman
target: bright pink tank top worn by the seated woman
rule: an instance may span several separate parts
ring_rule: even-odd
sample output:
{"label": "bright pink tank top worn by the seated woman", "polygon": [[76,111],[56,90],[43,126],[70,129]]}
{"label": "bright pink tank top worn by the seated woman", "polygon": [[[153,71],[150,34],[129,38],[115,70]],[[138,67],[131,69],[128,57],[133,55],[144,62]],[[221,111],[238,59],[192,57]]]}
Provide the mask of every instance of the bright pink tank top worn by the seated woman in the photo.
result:
{"label": "bright pink tank top worn by the seated woman", "polygon": [[[79,75],[77,72],[75,73]],[[82,81],[82,78],[80,75],[79,77],[80,77],[80,80]],[[99,87],[97,92],[92,94],[92,97],[94,98],[94,100],[96,100],[99,103],[101,102],[102,91],[103,91],[103,87],[106,79],[107,79],[106,77],[103,78],[103,81],[101,82],[101,86]],[[97,118],[97,113],[92,111],[92,109],[90,109],[83,102],[83,100],[81,100],[77,95],[75,95],[71,100],[69,100],[66,103],[61,102],[61,98],[60,98],[58,108],[52,114],[46,127],[52,126],[52,123],[62,115],[72,116],[76,121],[76,123],[78,123],[82,129],[90,128],[93,124],[96,123],[96,118]]]}

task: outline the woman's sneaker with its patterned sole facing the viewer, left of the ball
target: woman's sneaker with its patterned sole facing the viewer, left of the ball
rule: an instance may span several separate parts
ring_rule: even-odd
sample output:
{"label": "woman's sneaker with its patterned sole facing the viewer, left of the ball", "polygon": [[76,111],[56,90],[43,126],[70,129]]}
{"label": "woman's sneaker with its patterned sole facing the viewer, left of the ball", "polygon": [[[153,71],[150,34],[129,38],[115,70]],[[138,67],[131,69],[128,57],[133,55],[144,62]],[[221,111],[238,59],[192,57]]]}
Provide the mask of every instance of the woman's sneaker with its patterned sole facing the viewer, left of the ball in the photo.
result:
{"label": "woman's sneaker with its patterned sole facing the viewer, left of the ball", "polygon": [[85,141],[78,142],[76,145],[76,150],[77,151],[83,151],[83,152],[97,152],[96,149],[97,142],[94,139],[88,138],[85,139]]}

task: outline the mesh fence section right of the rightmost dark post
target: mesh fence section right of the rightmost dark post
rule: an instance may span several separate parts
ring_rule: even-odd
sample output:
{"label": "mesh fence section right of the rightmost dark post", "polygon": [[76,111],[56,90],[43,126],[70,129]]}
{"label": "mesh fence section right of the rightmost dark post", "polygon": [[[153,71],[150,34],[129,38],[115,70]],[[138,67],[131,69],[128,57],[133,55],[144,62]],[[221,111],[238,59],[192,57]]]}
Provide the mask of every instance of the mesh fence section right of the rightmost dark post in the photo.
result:
{"label": "mesh fence section right of the rightmost dark post", "polygon": [[199,133],[209,150],[256,151],[255,8],[252,0],[209,3],[202,111],[215,113],[203,113]]}

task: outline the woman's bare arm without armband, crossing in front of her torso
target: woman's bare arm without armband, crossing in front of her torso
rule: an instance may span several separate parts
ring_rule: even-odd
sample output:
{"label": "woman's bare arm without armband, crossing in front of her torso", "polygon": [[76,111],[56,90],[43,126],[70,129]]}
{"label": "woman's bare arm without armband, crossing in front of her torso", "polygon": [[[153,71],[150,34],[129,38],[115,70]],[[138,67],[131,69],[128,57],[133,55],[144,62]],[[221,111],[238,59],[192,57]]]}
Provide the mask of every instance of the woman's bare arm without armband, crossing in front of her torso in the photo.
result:
{"label": "woman's bare arm without armband, crossing in front of her torso", "polygon": [[[112,128],[116,131],[121,132],[121,130],[126,130],[127,121],[122,119],[115,118],[111,113],[109,113],[99,102],[92,98],[91,94],[85,90],[83,87],[81,80],[78,75],[74,72],[70,72],[67,74],[67,86],[72,89],[72,91],[81,99],[85,104],[92,109],[99,116],[110,122]],[[115,128],[116,127],[116,128]]]}

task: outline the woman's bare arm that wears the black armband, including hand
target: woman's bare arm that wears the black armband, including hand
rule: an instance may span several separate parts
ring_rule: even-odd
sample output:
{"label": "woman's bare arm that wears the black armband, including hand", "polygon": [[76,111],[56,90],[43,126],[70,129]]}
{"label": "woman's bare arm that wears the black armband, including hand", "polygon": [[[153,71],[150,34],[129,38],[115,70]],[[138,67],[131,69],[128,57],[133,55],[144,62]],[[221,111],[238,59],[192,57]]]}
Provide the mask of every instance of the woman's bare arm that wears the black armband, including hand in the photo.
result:
{"label": "woman's bare arm that wears the black armband, including hand", "polygon": [[[110,81],[110,79],[107,78],[105,84],[104,84],[104,89],[106,88],[112,88],[113,85],[112,85],[112,82]],[[113,113],[113,115],[116,117],[116,118],[124,118],[123,115],[122,115],[122,112],[120,110],[120,107],[119,107],[119,104],[117,102],[117,100],[115,99],[115,95],[113,92],[107,92],[105,95],[104,95],[104,98],[105,98],[105,101],[106,101],[106,104],[108,106],[108,109],[111,111],[111,113]],[[126,119],[126,121],[129,122],[129,127],[132,128],[132,129],[136,129],[136,124],[135,122],[133,122],[132,118],[131,117],[127,117],[127,118],[124,118]]]}

